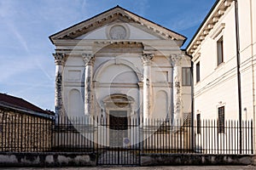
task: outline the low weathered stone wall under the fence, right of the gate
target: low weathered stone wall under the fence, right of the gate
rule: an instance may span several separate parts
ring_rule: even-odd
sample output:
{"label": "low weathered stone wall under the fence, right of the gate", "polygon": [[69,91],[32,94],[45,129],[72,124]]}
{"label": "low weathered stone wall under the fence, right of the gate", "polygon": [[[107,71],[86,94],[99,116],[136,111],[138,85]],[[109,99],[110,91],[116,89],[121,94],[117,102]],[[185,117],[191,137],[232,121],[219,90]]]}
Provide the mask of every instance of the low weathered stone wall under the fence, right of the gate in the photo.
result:
{"label": "low weathered stone wall under the fence, right of the gate", "polygon": [[141,166],[253,165],[250,155],[150,154],[141,156]]}

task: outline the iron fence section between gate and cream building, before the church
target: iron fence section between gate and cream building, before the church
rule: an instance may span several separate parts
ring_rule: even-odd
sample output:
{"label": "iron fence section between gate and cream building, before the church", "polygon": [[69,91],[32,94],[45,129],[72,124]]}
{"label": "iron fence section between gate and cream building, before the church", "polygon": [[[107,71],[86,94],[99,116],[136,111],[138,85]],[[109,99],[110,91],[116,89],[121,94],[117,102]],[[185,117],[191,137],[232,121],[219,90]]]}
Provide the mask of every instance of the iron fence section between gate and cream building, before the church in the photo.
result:
{"label": "iron fence section between gate and cream building, before the church", "polygon": [[143,153],[193,153],[190,123],[148,119],[143,126]]}

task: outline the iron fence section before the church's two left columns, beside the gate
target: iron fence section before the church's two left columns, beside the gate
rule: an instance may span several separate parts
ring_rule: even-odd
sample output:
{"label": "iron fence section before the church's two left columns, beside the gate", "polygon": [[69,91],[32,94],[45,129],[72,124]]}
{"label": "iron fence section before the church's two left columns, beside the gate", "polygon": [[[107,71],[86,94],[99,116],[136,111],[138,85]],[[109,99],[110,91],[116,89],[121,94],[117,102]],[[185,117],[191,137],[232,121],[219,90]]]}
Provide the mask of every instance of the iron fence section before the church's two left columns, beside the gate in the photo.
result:
{"label": "iron fence section before the church's two left columns, beside the gate", "polygon": [[53,151],[91,152],[95,149],[95,120],[91,117],[59,117],[53,133]]}

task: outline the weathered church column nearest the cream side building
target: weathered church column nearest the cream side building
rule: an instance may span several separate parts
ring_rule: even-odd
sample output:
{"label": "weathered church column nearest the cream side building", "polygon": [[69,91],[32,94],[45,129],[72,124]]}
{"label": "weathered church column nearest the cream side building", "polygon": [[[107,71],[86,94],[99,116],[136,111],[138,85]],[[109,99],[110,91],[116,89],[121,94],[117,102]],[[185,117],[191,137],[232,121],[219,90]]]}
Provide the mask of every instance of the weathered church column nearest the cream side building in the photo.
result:
{"label": "weathered church column nearest the cream side building", "polygon": [[171,61],[173,67],[173,116],[172,123],[174,125],[183,124],[183,111],[182,111],[182,66],[181,66],[182,55],[172,54]]}

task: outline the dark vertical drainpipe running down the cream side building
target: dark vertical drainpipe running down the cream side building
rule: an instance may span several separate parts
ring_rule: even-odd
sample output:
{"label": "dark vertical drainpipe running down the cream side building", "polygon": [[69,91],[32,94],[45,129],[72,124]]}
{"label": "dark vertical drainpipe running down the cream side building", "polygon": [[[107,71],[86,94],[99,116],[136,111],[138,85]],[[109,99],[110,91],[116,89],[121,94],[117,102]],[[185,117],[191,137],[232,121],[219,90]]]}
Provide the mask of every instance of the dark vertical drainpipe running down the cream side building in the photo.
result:
{"label": "dark vertical drainpipe running down the cream side building", "polygon": [[238,109],[239,109],[239,144],[241,154],[241,73],[240,73],[240,35],[239,35],[239,17],[238,17],[238,2],[235,1],[236,15],[236,65],[237,65],[237,88],[238,88]]}

